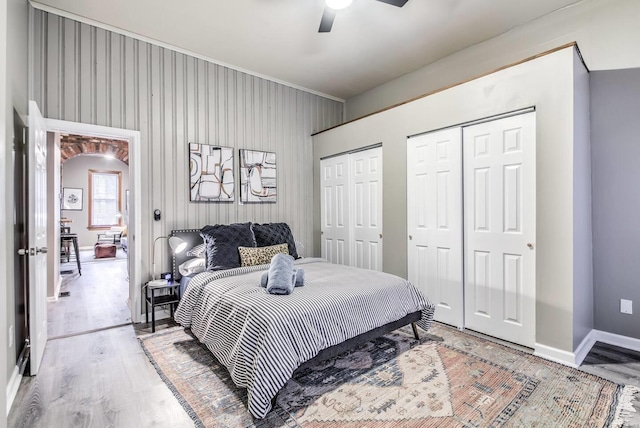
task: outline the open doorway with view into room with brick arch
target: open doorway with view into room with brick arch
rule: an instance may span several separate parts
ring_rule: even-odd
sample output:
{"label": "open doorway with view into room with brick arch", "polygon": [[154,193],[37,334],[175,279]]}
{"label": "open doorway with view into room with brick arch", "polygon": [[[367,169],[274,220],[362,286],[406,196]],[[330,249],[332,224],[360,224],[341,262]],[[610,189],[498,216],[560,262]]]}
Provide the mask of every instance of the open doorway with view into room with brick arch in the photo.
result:
{"label": "open doorway with view into room with brick arch", "polygon": [[57,265],[60,289],[53,290],[49,303],[49,337],[131,323],[129,143],[49,134],[50,162],[57,162],[51,170],[60,170],[59,178],[49,177],[50,194],[61,195],[60,203],[53,198],[50,207],[50,227],[60,228],[60,251],[50,258]]}

